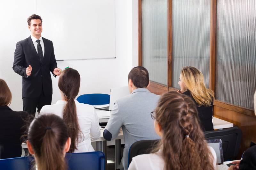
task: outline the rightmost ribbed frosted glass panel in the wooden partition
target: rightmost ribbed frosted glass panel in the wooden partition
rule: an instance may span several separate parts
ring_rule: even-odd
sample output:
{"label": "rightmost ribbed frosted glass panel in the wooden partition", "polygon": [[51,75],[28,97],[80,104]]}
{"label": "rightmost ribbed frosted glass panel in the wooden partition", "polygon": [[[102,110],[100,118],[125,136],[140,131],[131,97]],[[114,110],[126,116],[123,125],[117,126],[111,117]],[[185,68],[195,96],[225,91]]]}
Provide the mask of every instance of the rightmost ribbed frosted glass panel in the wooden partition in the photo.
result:
{"label": "rightmost ribbed frosted glass panel in the wooden partition", "polygon": [[216,99],[253,109],[256,1],[217,1]]}

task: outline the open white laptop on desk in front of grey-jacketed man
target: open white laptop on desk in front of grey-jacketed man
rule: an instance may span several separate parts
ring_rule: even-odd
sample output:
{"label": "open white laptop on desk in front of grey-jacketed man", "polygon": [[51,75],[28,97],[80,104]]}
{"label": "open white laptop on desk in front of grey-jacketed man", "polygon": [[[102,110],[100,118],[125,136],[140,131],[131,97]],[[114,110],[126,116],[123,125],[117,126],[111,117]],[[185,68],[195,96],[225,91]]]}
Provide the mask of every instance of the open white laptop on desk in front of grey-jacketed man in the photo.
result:
{"label": "open white laptop on desk in front of grey-jacketed man", "polygon": [[100,109],[100,110],[111,111],[114,106],[114,102],[116,100],[121,99],[122,97],[127,96],[129,94],[130,94],[130,92],[129,92],[128,86],[112,88],[112,89],[110,89],[109,104],[108,105],[100,105],[100,106],[97,106],[94,108]]}

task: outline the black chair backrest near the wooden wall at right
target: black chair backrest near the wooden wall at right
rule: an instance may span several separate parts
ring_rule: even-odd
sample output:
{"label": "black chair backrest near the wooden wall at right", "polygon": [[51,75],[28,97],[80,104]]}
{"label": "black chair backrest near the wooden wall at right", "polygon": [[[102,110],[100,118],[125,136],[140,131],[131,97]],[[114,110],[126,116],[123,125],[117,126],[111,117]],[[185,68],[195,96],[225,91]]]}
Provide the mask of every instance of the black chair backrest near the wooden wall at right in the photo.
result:
{"label": "black chair backrest near the wooden wall at right", "polygon": [[242,131],[238,127],[204,132],[205,139],[221,139],[224,161],[238,155]]}

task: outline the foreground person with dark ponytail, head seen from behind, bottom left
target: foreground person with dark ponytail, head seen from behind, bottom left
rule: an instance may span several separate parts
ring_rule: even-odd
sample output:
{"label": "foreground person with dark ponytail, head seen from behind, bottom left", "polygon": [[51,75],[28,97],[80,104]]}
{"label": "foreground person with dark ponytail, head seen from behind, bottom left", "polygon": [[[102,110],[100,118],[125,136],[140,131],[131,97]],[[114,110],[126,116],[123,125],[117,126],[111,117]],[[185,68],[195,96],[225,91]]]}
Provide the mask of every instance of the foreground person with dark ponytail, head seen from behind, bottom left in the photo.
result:
{"label": "foreground person with dark ponytail, head seen from behind, bottom left", "polygon": [[38,170],[68,169],[65,154],[70,144],[68,128],[57,115],[39,115],[28,128],[28,152],[34,155]]}

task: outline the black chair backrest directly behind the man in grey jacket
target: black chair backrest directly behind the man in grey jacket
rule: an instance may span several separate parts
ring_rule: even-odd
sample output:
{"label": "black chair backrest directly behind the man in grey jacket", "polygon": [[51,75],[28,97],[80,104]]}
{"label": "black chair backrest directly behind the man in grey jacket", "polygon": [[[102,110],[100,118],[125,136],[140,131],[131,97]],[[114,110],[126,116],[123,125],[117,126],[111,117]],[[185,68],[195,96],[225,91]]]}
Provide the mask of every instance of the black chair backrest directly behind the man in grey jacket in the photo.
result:
{"label": "black chair backrest directly behind the man in grey jacket", "polygon": [[134,142],[128,153],[128,167],[132,162],[132,158],[141,155],[141,154],[148,154],[151,152],[152,148],[156,147],[159,140],[140,140]]}

